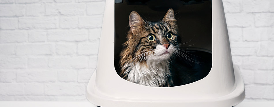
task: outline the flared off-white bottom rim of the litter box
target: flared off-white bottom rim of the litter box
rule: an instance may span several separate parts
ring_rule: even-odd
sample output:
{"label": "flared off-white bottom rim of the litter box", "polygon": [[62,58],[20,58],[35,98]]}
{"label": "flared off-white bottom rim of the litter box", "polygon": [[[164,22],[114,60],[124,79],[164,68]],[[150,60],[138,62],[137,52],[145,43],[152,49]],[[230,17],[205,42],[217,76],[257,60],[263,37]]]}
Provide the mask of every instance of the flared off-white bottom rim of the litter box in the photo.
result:
{"label": "flared off-white bottom rim of the litter box", "polygon": [[[159,100],[149,100],[149,99],[128,99],[128,98],[117,98],[115,96],[105,96],[104,93],[98,92],[95,85],[95,75],[96,70],[94,71],[91,79],[89,80],[87,86],[87,99],[98,106],[115,106],[115,107],[128,107],[128,106],[178,106],[185,105],[189,107],[211,107],[211,106],[227,106],[231,107],[239,104],[245,98],[244,83],[241,77],[240,70],[237,66],[234,66],[235,74],[235,84],[237,87],[230,93],[218,98],[210,99],[198,99],[194,100],[176,100],[172,102],[167,102],[166,99]],[[106,103],[108,102],[108,103]],[[137,106],[136,106],[137,107]]]}

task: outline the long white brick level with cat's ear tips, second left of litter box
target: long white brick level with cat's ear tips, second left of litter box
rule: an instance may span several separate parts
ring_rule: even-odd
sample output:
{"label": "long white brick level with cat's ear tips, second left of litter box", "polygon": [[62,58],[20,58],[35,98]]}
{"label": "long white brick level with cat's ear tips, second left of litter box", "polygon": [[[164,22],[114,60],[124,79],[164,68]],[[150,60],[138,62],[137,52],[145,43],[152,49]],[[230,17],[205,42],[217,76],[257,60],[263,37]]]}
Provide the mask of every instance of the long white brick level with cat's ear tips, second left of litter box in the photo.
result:
{"label": "long white brick level with cat's ear tips, second left of litter box", "polygon": [[47,4],[46,15],[85,15],[85,4]]}

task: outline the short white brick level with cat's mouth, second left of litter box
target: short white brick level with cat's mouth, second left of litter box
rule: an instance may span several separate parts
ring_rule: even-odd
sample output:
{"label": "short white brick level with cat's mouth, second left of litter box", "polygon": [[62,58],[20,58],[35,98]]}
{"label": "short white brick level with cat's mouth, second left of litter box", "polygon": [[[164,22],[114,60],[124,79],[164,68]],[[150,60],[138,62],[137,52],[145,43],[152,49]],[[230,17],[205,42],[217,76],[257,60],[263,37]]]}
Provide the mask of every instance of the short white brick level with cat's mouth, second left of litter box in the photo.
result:
{"label": "short white brick level with cat's mouth, second left of litter box", "polygon": [[56,44],[56,53],[58,55],[74,55],[77,45],[75,43],[59,43]]}

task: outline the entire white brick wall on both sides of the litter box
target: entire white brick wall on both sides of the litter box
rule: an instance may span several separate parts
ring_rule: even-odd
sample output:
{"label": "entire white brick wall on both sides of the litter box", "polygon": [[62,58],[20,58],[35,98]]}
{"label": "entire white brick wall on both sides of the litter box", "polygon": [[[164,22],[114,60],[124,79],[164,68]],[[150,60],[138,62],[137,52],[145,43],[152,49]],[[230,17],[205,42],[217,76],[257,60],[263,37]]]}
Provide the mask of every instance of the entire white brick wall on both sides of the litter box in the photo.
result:
{"label": "entire white brick wall on both sides of the litter box", "polygon": [[[223,0],[247,101],[274,101],[274,0]],[[105,0],[0,0],[0,100],[87,101]]]}

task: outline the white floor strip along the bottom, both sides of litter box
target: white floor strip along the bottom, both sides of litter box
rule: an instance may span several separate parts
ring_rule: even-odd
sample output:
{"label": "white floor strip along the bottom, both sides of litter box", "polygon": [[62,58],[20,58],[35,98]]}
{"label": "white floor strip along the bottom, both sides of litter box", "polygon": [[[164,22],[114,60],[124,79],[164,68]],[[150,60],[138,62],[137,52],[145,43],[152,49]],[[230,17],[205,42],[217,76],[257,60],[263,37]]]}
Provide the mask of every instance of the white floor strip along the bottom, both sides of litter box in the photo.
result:
{"label": "white floor strip along the bottom, both sides of litter box", "polygon": [[[90,102],[0,101],[0,107],[97,107]],[[274,102],[241,102],[235,107],[274,107]]]}

